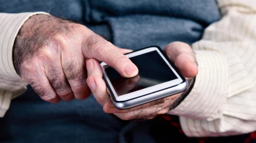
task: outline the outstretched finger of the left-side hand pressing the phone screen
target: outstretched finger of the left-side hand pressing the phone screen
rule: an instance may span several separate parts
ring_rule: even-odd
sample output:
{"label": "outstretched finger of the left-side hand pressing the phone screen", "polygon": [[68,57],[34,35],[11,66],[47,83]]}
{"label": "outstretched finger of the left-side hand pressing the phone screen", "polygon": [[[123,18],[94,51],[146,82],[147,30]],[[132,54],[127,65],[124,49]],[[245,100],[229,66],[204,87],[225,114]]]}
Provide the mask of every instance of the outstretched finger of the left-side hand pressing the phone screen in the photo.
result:
{"label": "outstretched finger of the left-side hand pressing the phone screen", "polygon": [[84,58],[95,58],[103,61],[125,78],[136,76],[139,72],[136,65],[123,55],[118,47],[94,32],[84,36],[82,52]]}

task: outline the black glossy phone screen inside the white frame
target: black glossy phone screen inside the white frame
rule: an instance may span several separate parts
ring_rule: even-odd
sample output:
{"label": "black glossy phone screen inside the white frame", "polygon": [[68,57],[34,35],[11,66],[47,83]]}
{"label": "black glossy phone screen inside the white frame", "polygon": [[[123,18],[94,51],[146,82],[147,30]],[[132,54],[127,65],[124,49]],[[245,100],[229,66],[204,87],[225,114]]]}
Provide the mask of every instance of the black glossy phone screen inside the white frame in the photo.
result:
{"label": "black glossy phone screen inside the white frame", "polygon": [[177,79],[156,50],[130,59],[139,68],[139,74],[133,78],[123,78],[114,68],[109,66],[105,68],[117,96]]}

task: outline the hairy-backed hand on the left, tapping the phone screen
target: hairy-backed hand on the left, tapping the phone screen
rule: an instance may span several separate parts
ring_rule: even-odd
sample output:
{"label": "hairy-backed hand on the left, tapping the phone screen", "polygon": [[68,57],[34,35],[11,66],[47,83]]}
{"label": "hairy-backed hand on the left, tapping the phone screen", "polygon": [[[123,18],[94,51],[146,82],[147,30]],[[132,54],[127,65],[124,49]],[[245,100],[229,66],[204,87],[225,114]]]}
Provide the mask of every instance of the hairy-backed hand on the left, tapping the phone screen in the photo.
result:
{"label": "hairy-backed hand on the left, tapping the phone screen", "polygon": [[[30,17],[19,31],[13,47],[17,73],[43,99],[86,99],[90,95],[86,59],[95,58],[124,77],[138,69],[119,49],[86,26],[39,14]],[[127,50],[125,50],[127,52]]]}

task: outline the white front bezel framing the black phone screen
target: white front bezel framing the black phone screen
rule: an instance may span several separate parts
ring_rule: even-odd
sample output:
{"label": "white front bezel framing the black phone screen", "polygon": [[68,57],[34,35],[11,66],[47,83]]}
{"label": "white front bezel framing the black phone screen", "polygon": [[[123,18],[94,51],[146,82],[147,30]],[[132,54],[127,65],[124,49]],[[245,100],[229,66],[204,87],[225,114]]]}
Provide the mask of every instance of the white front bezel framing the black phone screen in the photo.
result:
{"label": "white front bezel framing the black phone screen", "polygon": [[174,79],[174,80],[168,81],[168,82],[164,82],[162,84],[154,85],[152,87],[144,88],[143,90],[134,91],[133,93],[123,94],[122,96],[117,96],[117,93],[114,90],[114,87],[111,84],[110,79],[107,76],[107,73],[105,72],[105,68],[107,68],[109,65],[107,65],[105,62],[101,62],[101,67],[102,67],[102,71],[103,71],[103,74],[105,77],[105,81],[108,82],[108,85],[110,87],[110,90],[113,93],[113,96],[114,96],[116,102],[124,102],[126,100],[135,99],[137,97],[145,96],[146,94],[154,93],[155,91],[160,91],[160,90],[164,90],[166,88],[173,87],[173,86],[181,84],[183,82],[183,79],[181,79],[180,75],[178,75],[178,73],[173,69],[173,67],[169,64],[167,59],[164,57],[164,55],[160,52],[160,50],[157,47],[149,47],[146,49],[138,50],[136,52],[128,53],[125,56],[127,56],[128,58],[131,58],[134,56],[152,52],[154,50],[156,50],[159,53],[159,55],[164,59],[166,64],[170,67],[170,69],[176,75],[177,79]]}

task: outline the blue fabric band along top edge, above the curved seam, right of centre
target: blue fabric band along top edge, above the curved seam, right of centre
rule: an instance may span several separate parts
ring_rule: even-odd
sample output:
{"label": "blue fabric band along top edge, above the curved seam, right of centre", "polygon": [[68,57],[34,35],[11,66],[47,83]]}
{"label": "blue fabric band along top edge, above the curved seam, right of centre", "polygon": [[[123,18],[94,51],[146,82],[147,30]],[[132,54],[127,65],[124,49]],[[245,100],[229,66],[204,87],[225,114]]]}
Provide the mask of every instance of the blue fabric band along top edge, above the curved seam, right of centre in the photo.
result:
{"label": "blue fabric band along top edge, above the curved seam, right of centre", "polygon": [[85,4],[87,22],[102,22],[108,17],[150,14],[190,19],[209,25],[220,17],[216,1],[213,0],[87,0]]}

